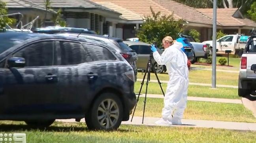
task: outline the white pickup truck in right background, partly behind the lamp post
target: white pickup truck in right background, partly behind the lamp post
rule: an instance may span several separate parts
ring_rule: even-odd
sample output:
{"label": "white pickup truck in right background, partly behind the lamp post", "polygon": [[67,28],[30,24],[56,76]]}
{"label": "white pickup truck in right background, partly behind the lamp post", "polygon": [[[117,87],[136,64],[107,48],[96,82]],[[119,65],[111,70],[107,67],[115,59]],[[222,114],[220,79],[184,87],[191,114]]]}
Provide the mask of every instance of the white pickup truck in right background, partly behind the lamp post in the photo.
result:
{"label": "white pickup truck in right background, partly behind the lamp post", "polygon": [[[217,51],[226,51],[231,50],[235,51],[236,48],[241,49],[245,48],[246,43],[240,43],[241,35],[226,35],[216,40],[216,49]],[[210,44],[211,48],[213,47],[213,41],[204,41],[202,43]]]}

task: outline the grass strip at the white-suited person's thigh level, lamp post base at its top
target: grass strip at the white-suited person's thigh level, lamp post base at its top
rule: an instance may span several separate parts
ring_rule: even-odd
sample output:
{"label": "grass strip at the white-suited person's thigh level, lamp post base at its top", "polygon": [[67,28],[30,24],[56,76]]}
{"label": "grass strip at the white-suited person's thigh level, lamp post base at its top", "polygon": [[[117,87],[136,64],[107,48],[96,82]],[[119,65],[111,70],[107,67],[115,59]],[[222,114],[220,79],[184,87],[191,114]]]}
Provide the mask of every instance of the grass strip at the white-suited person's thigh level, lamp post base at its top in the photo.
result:
{"label": "grass strip at the white-suited person's thigh level, lamp post base at its top", "polygon": [[[164,92],[166,91],[167,84],[162,83],[162,88]],[[141,87],[141,82],[137,81],[134,86],[134,92],[139,93]],[[188,96],[192,97],[211,97],[211,98],[226,98],[226,99],[241,99],[238,96],[236,88],[218,88],[217,90],[210,89],[209,86],[197,86],[189,85],[188,86]],[[143,84],[141,93],[146,92],[146,83]],[[158,83],[150,82],[148,85],[148,94],[162,94],[161,88]]]}

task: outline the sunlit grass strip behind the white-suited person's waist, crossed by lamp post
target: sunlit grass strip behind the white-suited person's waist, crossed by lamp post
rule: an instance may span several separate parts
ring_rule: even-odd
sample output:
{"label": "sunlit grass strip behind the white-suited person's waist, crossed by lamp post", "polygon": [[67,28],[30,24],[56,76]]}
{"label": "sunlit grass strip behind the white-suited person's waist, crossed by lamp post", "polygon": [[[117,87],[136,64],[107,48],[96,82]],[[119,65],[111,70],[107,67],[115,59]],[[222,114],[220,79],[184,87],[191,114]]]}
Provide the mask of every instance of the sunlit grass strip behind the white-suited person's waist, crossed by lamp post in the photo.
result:
{"label": "sunlit grass strip behind the white-suited person's waist, crossed by lamp post", "polygon": [[[138,73],[137,78],[143,79],[144,73]],[[168,81],[169,75],[167,73],[157,74],[159,79],[162,81]],[[207,70],[194,70],[189,72],[190,83],[208,83],[211,84],[212,71]],[[228,72],[216,72],[216,84],[224,85],[238,85],[239,73],[228,73]],[[156,80],[154,73],[151,73],[151,79]]]}

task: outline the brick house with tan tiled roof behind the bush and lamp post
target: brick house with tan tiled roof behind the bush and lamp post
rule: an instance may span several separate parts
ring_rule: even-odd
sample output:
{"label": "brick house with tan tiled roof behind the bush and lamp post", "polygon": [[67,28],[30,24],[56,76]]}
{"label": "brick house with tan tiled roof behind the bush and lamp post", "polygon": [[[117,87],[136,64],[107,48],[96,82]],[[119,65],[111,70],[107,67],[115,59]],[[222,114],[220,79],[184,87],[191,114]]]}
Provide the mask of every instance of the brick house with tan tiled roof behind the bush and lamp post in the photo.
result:
{"label": "brick house with tan tiled roof behind the bush and lamp post", "polygon": [[[143,17],[150,16],[150,6],[155,12],[160,11],[163,15],[173,13],[175,19],[183,19],[184,30],[196,29],[201,33],[201,41],[210,40],[212,37],[213,9],[195,9],[172,0],[91,0],[97,4],[113,9],[119,13],[120,21],[109,23],[123,29],[123,34],[117,31],[120,38],[135,36],[134,27],[137,29],[143,24]],[[237,8],[217,10],[217,28],[226,34],[248,35],[249,29],[256,27],[252,20],[243,18]]]}

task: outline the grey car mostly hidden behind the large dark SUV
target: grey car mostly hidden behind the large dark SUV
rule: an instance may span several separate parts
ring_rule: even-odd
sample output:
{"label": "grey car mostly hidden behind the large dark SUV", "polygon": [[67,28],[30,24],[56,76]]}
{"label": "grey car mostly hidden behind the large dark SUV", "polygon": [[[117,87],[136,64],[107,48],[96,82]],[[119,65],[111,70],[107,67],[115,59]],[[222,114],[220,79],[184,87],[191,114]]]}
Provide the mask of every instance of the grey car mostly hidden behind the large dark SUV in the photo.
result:
{"label": "grey car mostly hidden behind the large dark SUV", "polygon": [[80,37],[80,38],[86,38],[86,39],[93,39],[105,42],[106,44],[109,44],[112,48],[114,48],[116,51],[118,51],[126,61],[130,63],[134,70],[135,75],[135,81],[137,81],[137,53],[132,50],[130,47],[128,47],[126,44],[124,44],[123,40],[120,38],[113,38],[113,37],[105,37],[102,35],[93,35],[93,34],[84,34],[84,33],[57,33],[58,35],[65,35],[65,36],[71,36],[71,37]]}

